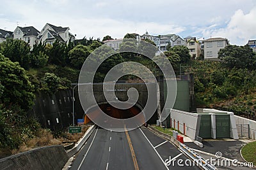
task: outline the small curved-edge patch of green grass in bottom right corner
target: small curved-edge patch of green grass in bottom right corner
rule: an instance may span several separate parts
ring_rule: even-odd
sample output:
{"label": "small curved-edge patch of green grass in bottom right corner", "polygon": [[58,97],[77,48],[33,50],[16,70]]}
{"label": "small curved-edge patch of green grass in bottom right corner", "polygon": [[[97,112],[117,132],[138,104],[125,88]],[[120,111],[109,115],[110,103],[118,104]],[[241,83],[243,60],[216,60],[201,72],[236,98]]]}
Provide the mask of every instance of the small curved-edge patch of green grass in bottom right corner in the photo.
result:
{"label": "small curved-edge patch of green grass in bottom right corner", "polygon": [[246,144],[241,151],[244,159],[256,165],[256,141]]}

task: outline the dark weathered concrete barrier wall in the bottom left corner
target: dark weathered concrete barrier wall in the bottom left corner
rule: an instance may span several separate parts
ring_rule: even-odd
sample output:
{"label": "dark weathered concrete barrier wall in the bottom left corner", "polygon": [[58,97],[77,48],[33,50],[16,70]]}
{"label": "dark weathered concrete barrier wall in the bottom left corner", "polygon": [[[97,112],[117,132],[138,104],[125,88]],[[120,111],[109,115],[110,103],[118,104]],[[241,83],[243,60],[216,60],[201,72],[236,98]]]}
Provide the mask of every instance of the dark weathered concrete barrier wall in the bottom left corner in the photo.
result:
{"label": "dark weathered concrete barrier wall in the bottom left corner", "polygon": [[0,159],[1,169],[61,169],[68,155],[62,145],[44,146]]}

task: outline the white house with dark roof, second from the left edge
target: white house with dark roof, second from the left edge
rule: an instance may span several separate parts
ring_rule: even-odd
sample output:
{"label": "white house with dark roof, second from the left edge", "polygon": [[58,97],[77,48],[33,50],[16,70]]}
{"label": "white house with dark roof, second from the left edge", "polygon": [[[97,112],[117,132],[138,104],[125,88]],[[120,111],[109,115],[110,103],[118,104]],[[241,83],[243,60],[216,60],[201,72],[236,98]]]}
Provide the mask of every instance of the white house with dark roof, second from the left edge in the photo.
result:
{"label": "white house with dark roof, second from the left edge", "polygon": [[29,27],[19,27],[17,26],[16,29],[13,31],[13,38],[24,40],[29,44],[29,47],[33,49],[33,46],[38,42],[37,36],[39,31],[35,29],[33,26]]}

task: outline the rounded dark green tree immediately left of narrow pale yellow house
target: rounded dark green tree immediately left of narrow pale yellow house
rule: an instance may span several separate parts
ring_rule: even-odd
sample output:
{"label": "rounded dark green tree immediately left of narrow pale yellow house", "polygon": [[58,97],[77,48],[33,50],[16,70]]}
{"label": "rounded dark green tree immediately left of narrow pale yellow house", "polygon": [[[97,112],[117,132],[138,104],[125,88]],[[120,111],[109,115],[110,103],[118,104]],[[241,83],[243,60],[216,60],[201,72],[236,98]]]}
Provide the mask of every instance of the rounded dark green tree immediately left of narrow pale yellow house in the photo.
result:
{"label": "rounded dark green tree immediately left of narrow pale yellow house", "polygon": [[188,47],[183,45],[178,45],[170,48],[169,51],[175,52],[180,56],[180,63],[187,64],[191,61],[191,56],[189,54]]}

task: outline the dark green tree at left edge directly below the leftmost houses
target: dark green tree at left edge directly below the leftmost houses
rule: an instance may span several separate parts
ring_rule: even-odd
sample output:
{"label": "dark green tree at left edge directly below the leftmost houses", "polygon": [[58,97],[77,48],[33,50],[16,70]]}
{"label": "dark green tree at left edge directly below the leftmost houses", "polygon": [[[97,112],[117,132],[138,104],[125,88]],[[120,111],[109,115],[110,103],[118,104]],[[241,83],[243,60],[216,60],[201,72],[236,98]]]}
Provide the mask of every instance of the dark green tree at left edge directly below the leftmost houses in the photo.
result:
{"label": "dark green tree at left edge directly below the leftmost houses", "polygon": [[19,62],[23,68],[29,68],[30,49],[28,43],[23,40],[7,39],[6,42],[1,43],[1,53],[11,61]]}

